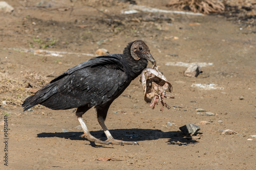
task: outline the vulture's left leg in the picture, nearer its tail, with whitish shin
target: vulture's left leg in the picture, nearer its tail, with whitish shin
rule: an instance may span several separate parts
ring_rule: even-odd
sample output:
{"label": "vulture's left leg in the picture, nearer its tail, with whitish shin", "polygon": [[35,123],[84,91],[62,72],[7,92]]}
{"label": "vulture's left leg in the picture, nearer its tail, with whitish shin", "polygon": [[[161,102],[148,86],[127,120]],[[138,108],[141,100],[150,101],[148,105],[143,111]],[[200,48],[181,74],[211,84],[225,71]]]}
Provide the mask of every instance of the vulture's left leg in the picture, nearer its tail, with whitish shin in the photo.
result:
{"label": "vulture's left leg in the picture, nearer its tail, with whitish shin", "polygon": [[76,110],[76,116],[77,116],[77,119],[83,129],[83,132],[84,134],[81,135],[82,137],[85,137],[87,138],[89,141],[94,141],[94,142],[97,142],[97,143],[100,143],[100,144],[110,144],[111,142],[108,142],[108,141],[102,141],[100,139],[97,139],[96,137],[94,137],[93,135],[90,134],[86,124],[83,122],[83,118],[82,118],[82,115],[88,111],[91,107],[88,107],[88,106],[82,106],[82,107],[78,107],[77,110]]}

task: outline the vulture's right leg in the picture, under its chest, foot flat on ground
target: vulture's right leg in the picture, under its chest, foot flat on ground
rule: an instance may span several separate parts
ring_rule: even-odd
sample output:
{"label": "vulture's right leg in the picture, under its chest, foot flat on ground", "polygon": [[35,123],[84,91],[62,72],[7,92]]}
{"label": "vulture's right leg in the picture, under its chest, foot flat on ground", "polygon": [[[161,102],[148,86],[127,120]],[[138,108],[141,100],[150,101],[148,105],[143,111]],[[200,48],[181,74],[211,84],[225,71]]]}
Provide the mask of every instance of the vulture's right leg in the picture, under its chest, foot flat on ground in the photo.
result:
{"label": "vulture's right leg in the picture, under its chest, foot flat on ground", "polygon": [[109,106],[105,106],[104,108],[96,107],[99,125],[101,126],[101,128],[103,129],[106,137],[108,138],[105,141],[108,141],[108,142],[111,142],[112,144],[117,144],[117,145],[124,145],[124,144],[135,145],[135,144],[139,144],[138,142],[134,142],[134,141],[123,141],[123,140],[117,140],[117,139],[113,138],[113,136],[110,134],[110,131],[108,130],[108,128],[106,128],[106,125],[104,123],[104,120],[106,118],[106,114],[109,110]]}

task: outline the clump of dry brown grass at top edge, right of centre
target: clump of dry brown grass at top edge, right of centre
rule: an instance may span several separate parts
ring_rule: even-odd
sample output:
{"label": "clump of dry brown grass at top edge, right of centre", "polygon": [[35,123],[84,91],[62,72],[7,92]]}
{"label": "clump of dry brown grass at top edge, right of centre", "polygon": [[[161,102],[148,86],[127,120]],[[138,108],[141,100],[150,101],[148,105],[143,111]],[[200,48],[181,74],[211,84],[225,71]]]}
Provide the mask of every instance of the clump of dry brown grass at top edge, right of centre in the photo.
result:
{"label": "clump of dry brown grass at top edge, right of centre", "polygon": [[166,6],[178,9],[188,8],[193,12],[205,14],[219,13],[225,10],[224,4],[219,0],[172,0]]}

